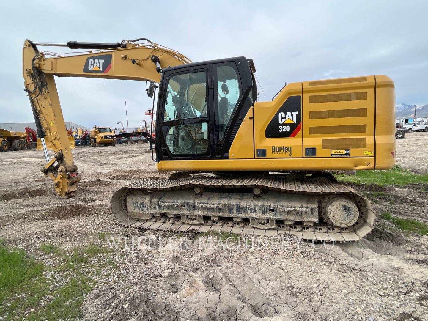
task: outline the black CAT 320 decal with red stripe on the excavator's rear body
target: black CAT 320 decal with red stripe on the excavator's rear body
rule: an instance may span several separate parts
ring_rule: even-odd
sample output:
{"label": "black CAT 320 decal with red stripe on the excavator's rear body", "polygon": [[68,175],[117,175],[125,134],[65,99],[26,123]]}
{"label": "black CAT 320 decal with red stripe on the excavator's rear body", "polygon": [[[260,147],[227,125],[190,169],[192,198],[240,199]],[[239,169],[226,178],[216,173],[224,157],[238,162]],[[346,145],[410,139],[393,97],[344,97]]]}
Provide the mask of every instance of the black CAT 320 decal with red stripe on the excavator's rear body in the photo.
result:
{"label": "black CAT 320 decal with red stripe on the excavator's rear body", "polygon": [[301,96],[290,96],[266,127],[266,138],[294,137],[302,129]]}

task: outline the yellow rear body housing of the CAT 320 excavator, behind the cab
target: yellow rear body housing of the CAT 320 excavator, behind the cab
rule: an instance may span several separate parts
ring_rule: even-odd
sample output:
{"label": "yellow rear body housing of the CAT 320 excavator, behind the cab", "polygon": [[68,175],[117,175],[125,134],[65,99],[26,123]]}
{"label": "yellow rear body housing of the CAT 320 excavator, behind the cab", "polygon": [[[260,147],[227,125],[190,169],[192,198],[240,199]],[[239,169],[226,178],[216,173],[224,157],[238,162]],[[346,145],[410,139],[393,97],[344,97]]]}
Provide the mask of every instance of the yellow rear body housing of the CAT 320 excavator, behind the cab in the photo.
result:
{"label": "yellow rear body housing of the CAT 320 excavator, behind the cab", "polygon": [[[302,97],[291,137],[266,137],[295,125],[278,110],[290,97]],[[290,83],[272,101],[256,102],[244,118],[225,160],[160,160],[162,171],[362,170],[395,166],[395,90],[383,75]],[[281,128],[282,129],[282,128]],[[375,143],[376,142],[376,143]],[[315,148],[315,155],[305,149]],[[259,158],[257,150],[265,150]]]}

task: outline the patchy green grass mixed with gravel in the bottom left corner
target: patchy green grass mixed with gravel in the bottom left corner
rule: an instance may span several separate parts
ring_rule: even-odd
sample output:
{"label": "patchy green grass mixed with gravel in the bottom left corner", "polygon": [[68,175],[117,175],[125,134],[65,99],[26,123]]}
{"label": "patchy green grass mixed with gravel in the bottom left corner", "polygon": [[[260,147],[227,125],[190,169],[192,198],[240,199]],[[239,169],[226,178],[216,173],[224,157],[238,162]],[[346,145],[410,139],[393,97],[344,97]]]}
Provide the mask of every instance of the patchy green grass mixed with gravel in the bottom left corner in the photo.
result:
{"label": "patchy green grass mixed with gravel in the bottom left corner", "polygon": [[[42,251],[55,253],[55,247],[46,245],[43,249],[41,246]],[[95,276],[101,268],[113,267],[110,260],[93,265],[91,260],[110,252],[89,244],[68,252],[60,251],[59,265],[44,266],[26,258],[23,250],[0,247],[0,316],[7,315],[6,320],[32,321],[81,319],[80,307],[85,295],[95,286]],[[45,304],[41,305],[41,301]],[[31,309],[34,311],[26,314]]]}

